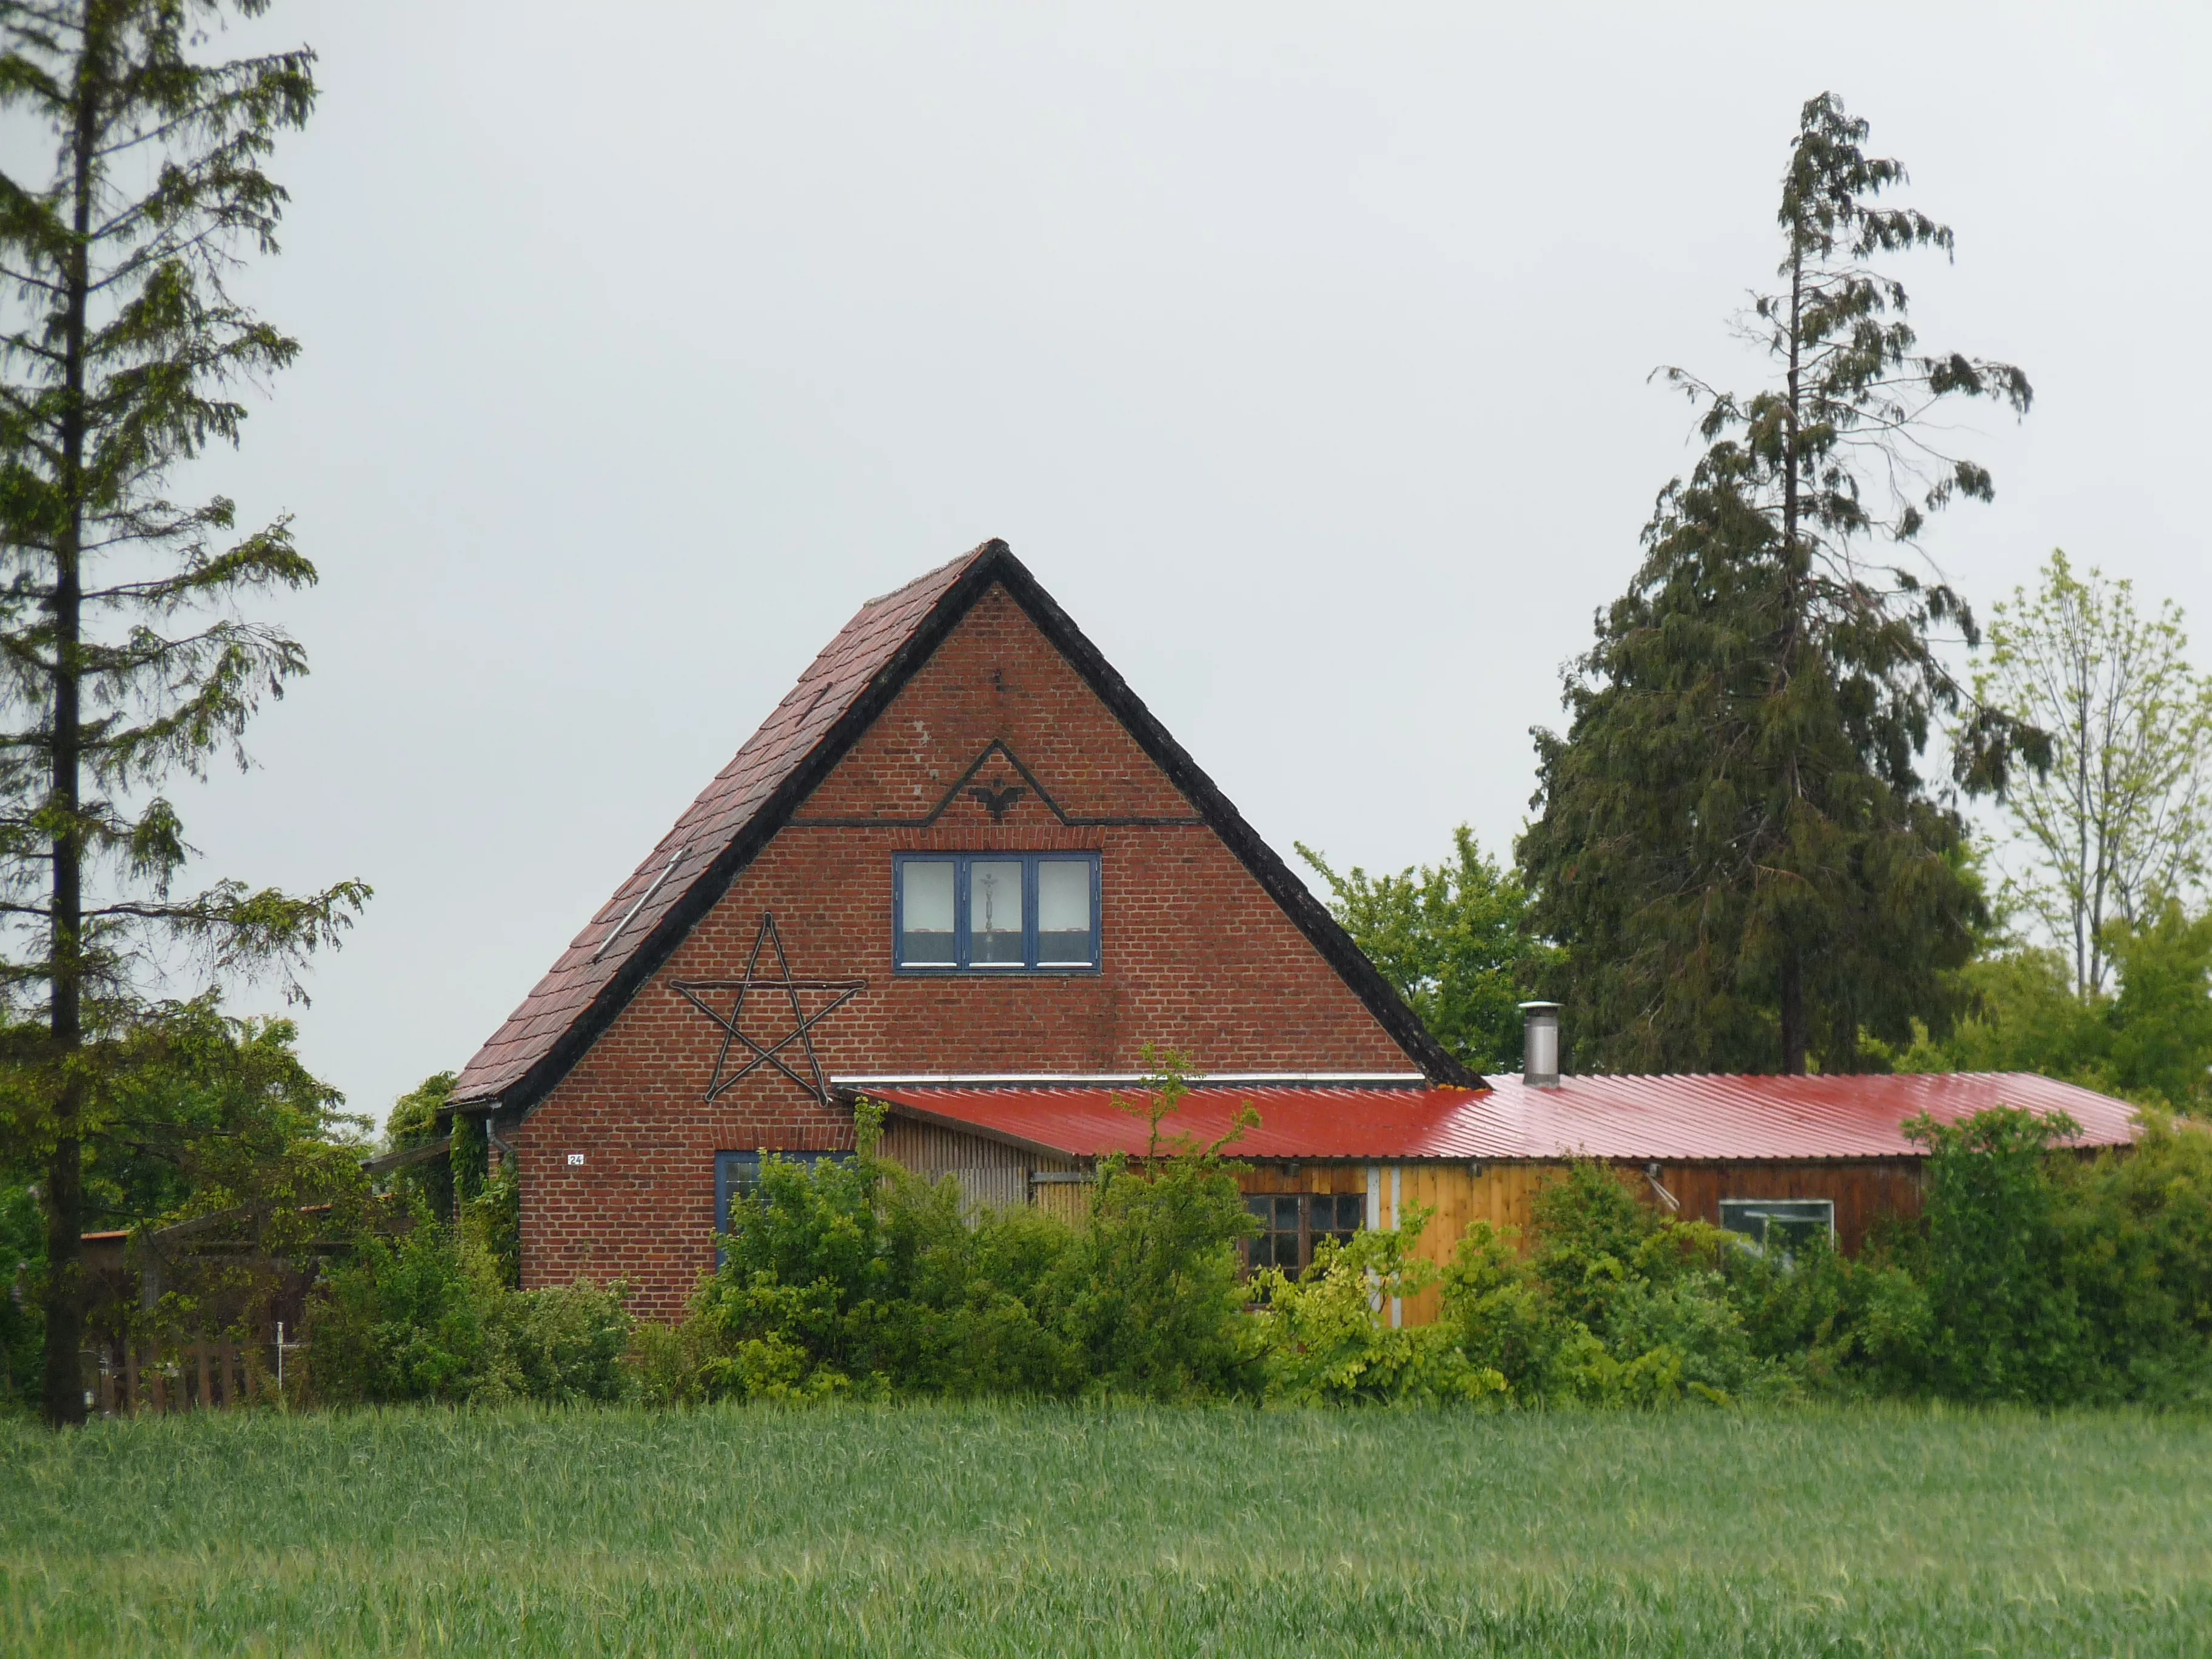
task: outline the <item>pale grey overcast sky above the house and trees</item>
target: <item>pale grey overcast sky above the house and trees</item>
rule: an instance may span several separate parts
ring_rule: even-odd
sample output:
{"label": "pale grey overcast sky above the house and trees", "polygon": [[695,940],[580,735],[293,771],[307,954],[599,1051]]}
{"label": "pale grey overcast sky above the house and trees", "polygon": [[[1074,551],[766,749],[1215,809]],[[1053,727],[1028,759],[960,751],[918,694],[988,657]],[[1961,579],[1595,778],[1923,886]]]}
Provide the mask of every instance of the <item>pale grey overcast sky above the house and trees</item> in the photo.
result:
{"label": "pale grey overcast sky above the house and trees", "polygon": [[[1004,535],[1281,852],[1509,852],[1845,95],[2013,358],[1978,602],[2051,546],[2212,659],[2212,9],[281,0],[323,104],[237,460],[323,586],[210,872],[376,900],[310,1064],[460,1066],[874,593]],[[2000,22],[2002,20],[2002,22]],[[241,995],[234,1006],[261,1006]]]}

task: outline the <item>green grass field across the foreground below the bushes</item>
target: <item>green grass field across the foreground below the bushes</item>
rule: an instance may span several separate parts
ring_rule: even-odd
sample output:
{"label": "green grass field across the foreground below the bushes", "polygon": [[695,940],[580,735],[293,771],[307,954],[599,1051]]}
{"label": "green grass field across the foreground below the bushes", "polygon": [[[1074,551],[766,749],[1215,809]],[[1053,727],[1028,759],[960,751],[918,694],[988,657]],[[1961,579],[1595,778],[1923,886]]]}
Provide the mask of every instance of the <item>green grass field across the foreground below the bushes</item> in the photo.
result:
{"label": "green grass field across the foreground below the bushes", "polygon": [[2203,1655],[2212,1425],[1048,1407],[9,1425],[0,1646]]}

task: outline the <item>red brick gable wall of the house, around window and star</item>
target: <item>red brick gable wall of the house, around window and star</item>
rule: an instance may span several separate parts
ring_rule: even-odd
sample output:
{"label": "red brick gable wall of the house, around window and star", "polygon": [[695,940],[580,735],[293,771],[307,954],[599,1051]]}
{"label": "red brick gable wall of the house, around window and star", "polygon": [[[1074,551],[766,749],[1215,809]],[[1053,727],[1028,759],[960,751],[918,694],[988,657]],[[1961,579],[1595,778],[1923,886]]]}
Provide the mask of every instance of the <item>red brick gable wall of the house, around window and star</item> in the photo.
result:
{"label": "red brick gable wall of the house, around window and star", "polygon": [[[920,818],[993,741],[1062,812],[1181,823],[1071,827],[1035,796],[1004,823],[958,799]],[[975,783],[1018,783],[998,757]],[[511,1137],[522,1170],[522,1283],[626,1279],[635,1307],[681,1312],[712,1265],[717,1150],[852,1144],[843,1113],[761,1071],[714,1106],[719,1029],[670,980],[737,978],[774,911],[801,978],[865,978],[814,1029],[830,1075],[1135,1071],[1146,1042],[1210,1071],[1413,1071],[1396,1042],[1082,684],[993,591],[883,719],[732,883],[670,962]],[[1102,971],[1071,978],[896,978],[891,854],[1086,847],[1102,856]],[[745,1031],[790,1031],[757,998]],[[785,1051],[805,1071],[796,1044]],[[584,1166],[568,1166],[582,1152]]]}

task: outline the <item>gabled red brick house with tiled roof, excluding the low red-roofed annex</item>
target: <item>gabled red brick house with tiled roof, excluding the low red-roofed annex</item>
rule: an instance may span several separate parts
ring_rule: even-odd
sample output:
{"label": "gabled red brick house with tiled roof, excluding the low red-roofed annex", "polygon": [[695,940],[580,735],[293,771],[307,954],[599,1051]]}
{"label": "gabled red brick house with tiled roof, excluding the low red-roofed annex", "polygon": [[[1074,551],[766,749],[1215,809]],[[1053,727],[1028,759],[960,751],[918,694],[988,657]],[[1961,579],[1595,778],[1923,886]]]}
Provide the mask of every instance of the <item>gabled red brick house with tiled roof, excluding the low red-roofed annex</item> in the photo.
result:
{"label": "gabled red brick house with tiled roof, excluding the low red-roofed annex", "polygon": [[453,1106],[518,1159],[526,1285],[619,1276],[670,1316],[745,1159],[852,1146],[843,1079],[1126,1075],[1146,1042],[1478,1082],[987,542],[860,608]]}

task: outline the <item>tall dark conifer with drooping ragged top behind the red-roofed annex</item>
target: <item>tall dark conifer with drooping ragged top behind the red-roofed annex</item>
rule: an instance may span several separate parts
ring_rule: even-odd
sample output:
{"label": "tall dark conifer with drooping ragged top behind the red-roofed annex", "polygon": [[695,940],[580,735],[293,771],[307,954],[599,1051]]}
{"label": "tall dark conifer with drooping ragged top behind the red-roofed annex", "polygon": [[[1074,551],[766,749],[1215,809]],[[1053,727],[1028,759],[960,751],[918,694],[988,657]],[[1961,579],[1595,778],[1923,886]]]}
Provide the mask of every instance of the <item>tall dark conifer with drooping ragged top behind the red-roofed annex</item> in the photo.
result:
{"label": "tall dark conifer with drooping ragged top behind the red-roofed annex", "polygon": [[1924,354],[1905,288],[1871,261],[1951,232],[1878,199],[1898,161],[1834,95],[1805,104],[1783,175],[1783,285],[1750,332],[1776,383],[1703,405],[1688,482],[1659,493],[1646,557],[1568,670],[1566,737],[1537,732],[1537,818],[1517,843],[1577,1066],[1825,1071],[1860,1033],[1949,1013],[1947,969],[1986,920],[1958,812],[1920,757],[1955,717],[1953,774],[2002,787],[2048,741],[1971,703],[1933,630],[1975,637],[1951,588],[1863,557],[1929,513],[1991,498],[1933,447],[1953,398],[2028,407],[2020,369]]}

